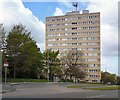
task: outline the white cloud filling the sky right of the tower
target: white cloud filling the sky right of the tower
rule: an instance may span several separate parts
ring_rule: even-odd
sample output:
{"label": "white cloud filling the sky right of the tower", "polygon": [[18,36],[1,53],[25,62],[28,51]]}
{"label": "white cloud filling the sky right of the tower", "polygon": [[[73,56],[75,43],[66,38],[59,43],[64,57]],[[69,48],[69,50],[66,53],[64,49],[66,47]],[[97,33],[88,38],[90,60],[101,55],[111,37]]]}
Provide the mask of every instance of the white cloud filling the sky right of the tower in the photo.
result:
{"label": "white cloud filling the sky right of the tower", "polygon": [[86,9],[101,13],[101,68],[118,74],[118,0],[90,2]]}

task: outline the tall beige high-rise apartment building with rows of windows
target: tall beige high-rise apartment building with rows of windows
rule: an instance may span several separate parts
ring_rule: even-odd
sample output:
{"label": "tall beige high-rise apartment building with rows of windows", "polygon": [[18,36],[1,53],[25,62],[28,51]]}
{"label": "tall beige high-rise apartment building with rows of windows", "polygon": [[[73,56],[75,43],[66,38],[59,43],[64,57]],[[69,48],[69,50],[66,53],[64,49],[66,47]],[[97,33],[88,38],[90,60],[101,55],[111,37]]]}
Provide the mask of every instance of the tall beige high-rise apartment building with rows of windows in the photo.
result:
{"label": "tall beige high-rise apartment building with rows of windows", "polygon": [[100,82],[100,12],[72,11],[63,16],[47,17],[46,49],[59,49],[59,57],[70,50],[82,50],[88,65],[85,80]]}

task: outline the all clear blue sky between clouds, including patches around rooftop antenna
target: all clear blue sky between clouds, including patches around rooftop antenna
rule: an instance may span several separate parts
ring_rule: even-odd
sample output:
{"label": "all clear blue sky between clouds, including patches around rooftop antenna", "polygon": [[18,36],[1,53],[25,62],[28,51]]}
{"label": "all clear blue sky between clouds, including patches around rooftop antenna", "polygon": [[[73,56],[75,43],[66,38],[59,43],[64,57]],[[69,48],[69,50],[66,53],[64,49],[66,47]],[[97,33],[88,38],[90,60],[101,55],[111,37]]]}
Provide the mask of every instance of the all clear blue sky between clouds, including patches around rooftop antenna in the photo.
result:
{"label": "all clear blue sky between clouds, including patches around rooftop antenna", "polygon": [[[23,4],[44,23],[46,17],[53,16],[56,7],[61,8],[64,13],[68,10],[68,8],[64,6],[64,4],[61,2],[23,2]],[[88,4],[88,2],[80,2],[78,8],[81,10],[86,9]],[[69,6],[71,6],[71,8],[69,8],[70,10],[74,9],[74,7],[72,6],[72,2]]]}

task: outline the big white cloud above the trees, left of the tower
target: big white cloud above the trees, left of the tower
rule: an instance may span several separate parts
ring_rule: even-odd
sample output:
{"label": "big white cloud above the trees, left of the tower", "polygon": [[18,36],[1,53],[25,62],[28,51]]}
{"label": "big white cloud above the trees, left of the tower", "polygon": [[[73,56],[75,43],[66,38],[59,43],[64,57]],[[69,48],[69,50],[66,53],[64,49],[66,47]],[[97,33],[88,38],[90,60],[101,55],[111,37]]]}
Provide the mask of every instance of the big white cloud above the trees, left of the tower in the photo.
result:
{"label": "big white cloud above the trees, left of the tower", "polygon": [[[45,42],[45,24],[34,16],[30,9],[25,8],[21,0],[2,1],[0,2],[0,23],[4,24],[6,31],[9,32],[13,25],[21,23],[32,32],[31,36],[37,44],[43,45]],[[44,48],[42,49],[44,50]]]}

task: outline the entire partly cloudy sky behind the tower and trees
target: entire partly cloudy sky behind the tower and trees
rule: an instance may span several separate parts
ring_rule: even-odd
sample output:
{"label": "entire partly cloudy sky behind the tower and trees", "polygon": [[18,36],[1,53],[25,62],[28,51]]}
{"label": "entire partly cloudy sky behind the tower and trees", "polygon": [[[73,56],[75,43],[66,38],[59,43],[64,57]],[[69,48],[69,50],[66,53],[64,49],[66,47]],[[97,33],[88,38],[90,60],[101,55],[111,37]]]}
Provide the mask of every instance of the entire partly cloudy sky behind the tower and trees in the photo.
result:
{"label": "entire partly cloudy sky behind the tower and trees", "polygon": [[[64,1],[64,2],[63,2]],[[76,0],[81,12],[101,14],[101,70],[118,73],[118,1]],[[0,0],[0,23],[8,33],[13,25],[23,24],[41,51],[45,50],[45,18],[73,11],[73,0]]]}

